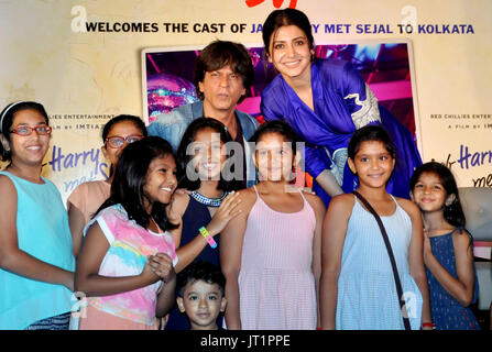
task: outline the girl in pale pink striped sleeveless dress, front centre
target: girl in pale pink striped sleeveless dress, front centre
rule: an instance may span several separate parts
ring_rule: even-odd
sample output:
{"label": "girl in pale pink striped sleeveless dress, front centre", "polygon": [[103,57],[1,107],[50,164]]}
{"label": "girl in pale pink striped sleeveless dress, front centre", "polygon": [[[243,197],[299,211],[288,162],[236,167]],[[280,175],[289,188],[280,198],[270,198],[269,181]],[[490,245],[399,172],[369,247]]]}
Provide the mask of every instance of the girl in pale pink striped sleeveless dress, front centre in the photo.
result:
{"label": "girl in pale pink striped sleeveless dress, front centre", "polygon": [[289,185],[300,154],[287,123],[270,121],[251,141],[262,180],[240,191],[241,212],[221,234],[227,328],[315,329],[325,205]]}

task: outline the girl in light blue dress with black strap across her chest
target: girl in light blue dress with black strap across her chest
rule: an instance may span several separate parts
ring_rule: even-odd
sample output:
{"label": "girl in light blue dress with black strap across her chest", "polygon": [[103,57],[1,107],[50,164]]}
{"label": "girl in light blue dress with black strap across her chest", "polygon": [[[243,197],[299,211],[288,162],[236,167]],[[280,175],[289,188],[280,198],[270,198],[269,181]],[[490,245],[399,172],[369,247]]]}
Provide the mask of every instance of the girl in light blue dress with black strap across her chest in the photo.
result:
{"label": "girl in light blue dress with black strap across her chest", "polygon": [[[359,176],[358,193],[372,205],[387,232],[411,329],[428,329],[430,309],[423,260],[418,208],[395,198],[385,184],[395,164],[395,148],[379,125],[356,131],[348,146],[349,167]],[[322,229],[320,314],[324,329],[402,330],[390,255],[373,215],[354,195],[332,198]]]}

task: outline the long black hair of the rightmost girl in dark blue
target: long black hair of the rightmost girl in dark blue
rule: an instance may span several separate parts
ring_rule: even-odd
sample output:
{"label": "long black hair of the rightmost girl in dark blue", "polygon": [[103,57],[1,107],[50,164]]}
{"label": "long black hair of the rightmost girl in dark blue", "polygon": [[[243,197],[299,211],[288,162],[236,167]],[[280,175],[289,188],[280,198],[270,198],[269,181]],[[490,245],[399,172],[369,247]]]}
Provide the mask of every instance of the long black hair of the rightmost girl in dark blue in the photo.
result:
{"label": "long black hair of the rightmost girl in dark blue", "polygon": [[461,207],[458,185],[456,184],[456,179],[451,170],[445,165],[437,162],[428,162],[418,166],[412,175],[409,182],[409,191],[414,191],[415,185],[418,183],[422,174],[426,173],[434,174],[439,178],[440,184],[446,190],[446,197],[455,195],[455,200],[449,204],[449,206],[447,206],[445,202],[444,217],[446,221],[448,221],[453,227],[464,228],[467,219],[464,218],[463,208]]}

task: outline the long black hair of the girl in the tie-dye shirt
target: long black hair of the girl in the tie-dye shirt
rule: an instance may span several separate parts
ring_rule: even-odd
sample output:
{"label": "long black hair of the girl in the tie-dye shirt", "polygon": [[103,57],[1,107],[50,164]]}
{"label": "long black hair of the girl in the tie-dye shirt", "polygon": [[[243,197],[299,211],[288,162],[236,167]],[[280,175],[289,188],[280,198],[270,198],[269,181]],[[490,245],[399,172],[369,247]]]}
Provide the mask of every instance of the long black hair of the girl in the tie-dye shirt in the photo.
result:
{"label": "long black hair of the girl in the tie-dye shirt", "polygon": [[170,142],[160,136],[147,136],[129,144],[118,160],[114,179],[111,183],[111,195],[100,206],[96,215],[105,208],[120,204],[129,219],[135,220],[142,228],[147,227],[151,216],[163,231],[177,228],[177,224],[167,219],[166,205],[154,202],[152,212],[149,215],[143,201],[143,187],[149,166],[154,158],[166,155],[173,155],[173,147]]}

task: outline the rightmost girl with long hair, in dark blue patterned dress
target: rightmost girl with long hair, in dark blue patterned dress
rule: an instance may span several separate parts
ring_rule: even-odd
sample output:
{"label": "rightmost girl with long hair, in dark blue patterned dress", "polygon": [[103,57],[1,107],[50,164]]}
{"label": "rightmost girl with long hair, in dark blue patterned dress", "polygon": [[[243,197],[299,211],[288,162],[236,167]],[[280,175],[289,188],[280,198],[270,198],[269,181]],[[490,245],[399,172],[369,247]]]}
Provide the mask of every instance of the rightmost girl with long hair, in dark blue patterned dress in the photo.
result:
{"label": "rightmost girl with long hair, in dark blue patterned dress", "polygon": [[455,177],[446,166],[426,163],[415,170],[411,189],[424,219],[424,261],[436,329],[479,330],[468,307],[479,289],[473,239],[464,229]]}

